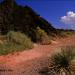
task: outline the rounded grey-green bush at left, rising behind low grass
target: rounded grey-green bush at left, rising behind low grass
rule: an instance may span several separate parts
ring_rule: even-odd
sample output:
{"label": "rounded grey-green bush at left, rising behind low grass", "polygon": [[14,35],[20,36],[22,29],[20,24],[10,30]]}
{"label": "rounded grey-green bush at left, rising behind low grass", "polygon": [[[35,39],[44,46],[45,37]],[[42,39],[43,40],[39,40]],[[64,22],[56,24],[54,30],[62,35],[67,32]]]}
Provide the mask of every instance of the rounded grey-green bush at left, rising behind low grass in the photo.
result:
{"label": "rounded grey-green bush at left, rising behind low grass", "polygon": [[26,48],[32,48],[33,46],[31,39],[21,32],[10,31],[7,34],[7,41],[24,45]]}

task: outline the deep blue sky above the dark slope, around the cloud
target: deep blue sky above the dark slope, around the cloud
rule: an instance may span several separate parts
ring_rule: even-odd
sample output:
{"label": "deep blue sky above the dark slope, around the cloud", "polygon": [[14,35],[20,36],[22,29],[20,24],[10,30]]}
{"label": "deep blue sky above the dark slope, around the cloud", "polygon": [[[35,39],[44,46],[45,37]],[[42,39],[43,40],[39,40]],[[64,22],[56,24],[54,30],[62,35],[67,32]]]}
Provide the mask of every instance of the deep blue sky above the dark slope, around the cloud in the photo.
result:
{"label": "deep blue sky above the dark slope, around the cloud", "polygon": [[75,24],[61,21],[61,17],[68,16],[68,12],[75,14],[75,0],[16,0],[16,2],[19,5],[32,7],[56,28],[75,28]]}

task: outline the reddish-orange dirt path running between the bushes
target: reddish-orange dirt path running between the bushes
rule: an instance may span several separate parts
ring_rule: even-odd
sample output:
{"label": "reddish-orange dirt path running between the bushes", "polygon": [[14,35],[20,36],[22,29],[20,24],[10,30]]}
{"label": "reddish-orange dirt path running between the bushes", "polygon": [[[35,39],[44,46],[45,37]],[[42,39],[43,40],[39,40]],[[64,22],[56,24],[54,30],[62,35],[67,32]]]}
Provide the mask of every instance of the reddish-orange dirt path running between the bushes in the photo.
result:
{"label": "reddish-orange dirt path running between the bushes", "polygon": [[48,57],[65,45],[75,45],[75,35],[57,38],[51,45],[35,45],[31,50],[0,56],[0,75],[39,75],[39,69],[49,64]]}

